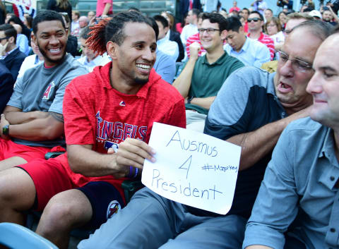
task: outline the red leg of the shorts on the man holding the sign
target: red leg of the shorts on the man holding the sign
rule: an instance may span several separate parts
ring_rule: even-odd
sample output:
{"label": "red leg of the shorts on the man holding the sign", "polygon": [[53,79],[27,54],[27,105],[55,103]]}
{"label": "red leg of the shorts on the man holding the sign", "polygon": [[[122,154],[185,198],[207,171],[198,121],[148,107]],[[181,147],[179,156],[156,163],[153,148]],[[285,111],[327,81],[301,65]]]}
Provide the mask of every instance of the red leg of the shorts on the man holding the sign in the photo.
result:
{"label": "red leg of the shorts on the man holding the sign", "polygon": [[[59,157],[64,157],[64,155]],[[73,183],[67,170],[57,158],[49,160],[36,159],[28,164],[21,164],[18,167],[25,170],[35,184],[37,201],[33,209],[36,211],[42,211],[46,207],[47,202],[57,193],[81,187]],[[83,186],[84,183],[87,183],[87,181],[83,181],[81,185]]]}

